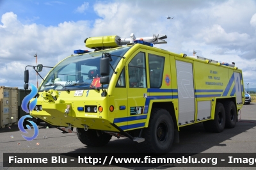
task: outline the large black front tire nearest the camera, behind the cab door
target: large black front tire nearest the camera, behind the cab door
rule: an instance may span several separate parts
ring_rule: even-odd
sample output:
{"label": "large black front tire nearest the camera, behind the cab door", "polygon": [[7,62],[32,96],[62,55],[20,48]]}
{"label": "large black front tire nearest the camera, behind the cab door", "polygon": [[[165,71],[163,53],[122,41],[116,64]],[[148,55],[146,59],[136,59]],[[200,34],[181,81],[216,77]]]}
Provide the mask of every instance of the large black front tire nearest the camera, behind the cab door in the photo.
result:
{"label": "large black front tire nearest the camera, behind the cab door", "polygon": [[143,130],[145,141],[138,148],[147,153],[161,155],[170,151],[174,137],[172,116],[165,109],[152,109],[148,128]]}

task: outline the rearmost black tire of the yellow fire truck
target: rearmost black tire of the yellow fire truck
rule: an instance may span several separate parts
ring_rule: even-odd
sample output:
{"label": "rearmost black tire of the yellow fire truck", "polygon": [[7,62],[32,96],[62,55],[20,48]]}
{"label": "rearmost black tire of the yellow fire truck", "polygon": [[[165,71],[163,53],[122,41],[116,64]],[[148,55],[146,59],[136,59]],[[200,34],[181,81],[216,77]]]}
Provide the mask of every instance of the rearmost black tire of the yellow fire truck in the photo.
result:
{"label": "rearmost black tire of the yellow fire truck", "polygon": [[226,123],[225,128],[234,128],[236,127],[237,122],[237,111],[236,105],[232,101],[225,102],[225,114],[226,114]]}

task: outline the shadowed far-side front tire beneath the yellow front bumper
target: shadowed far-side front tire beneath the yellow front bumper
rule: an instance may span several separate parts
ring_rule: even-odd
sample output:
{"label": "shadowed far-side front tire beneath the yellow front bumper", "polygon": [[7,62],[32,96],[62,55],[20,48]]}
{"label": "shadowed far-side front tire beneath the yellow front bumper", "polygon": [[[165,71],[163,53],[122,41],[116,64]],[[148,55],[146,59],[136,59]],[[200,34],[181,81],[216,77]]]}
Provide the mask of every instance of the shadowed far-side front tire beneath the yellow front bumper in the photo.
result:
{"label": "shadowed far-side front tire beneath the yellow front bumper", "polygon": [[98,136],[96,130],[92,129],[85,131],[84,128],[76,128],[76,132],[81,143],[86,144],[87,146],[104,146],[108,144],[112,137],[106,133]]}

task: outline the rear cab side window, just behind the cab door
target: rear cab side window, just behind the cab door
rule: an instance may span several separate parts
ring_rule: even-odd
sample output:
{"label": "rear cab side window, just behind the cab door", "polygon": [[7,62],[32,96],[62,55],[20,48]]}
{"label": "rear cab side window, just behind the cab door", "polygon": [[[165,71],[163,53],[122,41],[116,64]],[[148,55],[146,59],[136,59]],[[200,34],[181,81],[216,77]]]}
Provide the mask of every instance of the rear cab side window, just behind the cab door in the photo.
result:
{"label": "rear cab side window, just behind the cab door", "polygon": [[163,81],[164,57],[148,54],[150,88],[161,88]]}

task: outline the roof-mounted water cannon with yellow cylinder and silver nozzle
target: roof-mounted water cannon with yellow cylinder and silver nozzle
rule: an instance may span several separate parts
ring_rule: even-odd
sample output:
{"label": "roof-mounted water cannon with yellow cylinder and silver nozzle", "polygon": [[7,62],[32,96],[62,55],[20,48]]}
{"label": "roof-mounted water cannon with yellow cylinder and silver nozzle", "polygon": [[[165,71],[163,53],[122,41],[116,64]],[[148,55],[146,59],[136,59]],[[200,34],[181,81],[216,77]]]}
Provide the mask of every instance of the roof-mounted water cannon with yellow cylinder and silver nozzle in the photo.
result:
{"label": "roof-mounted water cannon with yellow cylinder and silver nozzle", "polygon": [[141,40],[143,42],[161,44],[167,43],[165,39],[166,35],[154,34],[153,36],[136,38],[136,36],[132,33],[130,38],[120,38],[117,35],[111,36],[98,36],[98,37],[90,37],[84,40],[85,46],[90,49],[102,50],[102,49],[111,49],[120,47],[122,45],[133,44],[136,40]]}

